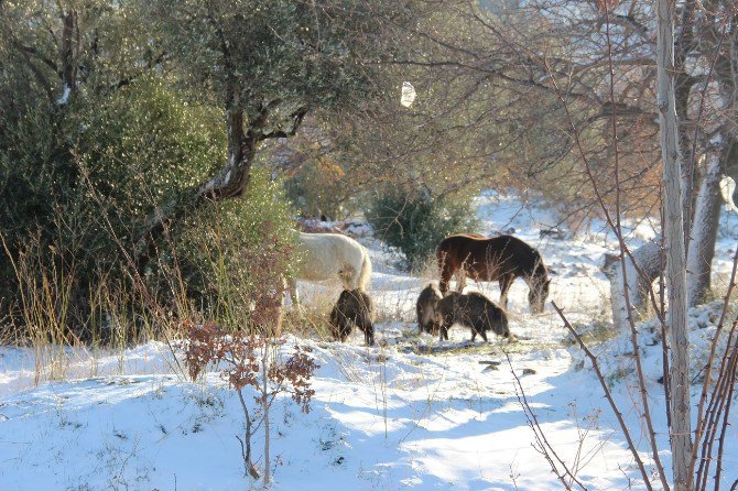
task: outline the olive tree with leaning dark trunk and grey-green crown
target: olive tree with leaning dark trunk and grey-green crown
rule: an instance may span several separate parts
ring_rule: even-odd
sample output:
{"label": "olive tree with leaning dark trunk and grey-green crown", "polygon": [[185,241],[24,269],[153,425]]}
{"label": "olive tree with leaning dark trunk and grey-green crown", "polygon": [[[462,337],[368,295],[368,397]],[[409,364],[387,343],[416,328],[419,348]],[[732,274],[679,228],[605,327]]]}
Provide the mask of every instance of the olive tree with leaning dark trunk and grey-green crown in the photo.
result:
{"label": "olive tree with leaning dark trunk and grey-green crown", "polygon": [[167,222],[207,201],[245,193],[259,149],[293,137],[315,110],[369,105],[382,91],[376,65],[402,2],[155,0],[145,7],[176,81],[197,87],[225,113],[225,162],[162,203],[138,233],[142,264]]}

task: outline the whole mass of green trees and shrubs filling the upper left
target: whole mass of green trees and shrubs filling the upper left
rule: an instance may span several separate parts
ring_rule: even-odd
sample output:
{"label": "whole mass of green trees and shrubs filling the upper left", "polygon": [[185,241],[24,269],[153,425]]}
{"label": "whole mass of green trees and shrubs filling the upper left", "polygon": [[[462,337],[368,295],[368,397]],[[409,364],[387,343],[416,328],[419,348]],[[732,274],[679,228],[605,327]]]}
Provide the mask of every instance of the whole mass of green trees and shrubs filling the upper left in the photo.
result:
{"label": "whole mass of green trees and shrubs filling the upper left", "polygon": [[[195,298],[236,325],[248,313],[226,310],[259,286],[253,261],[273,277],[290,263],[291,212],[281,184],[251,171],[258,151],[310,112],[371,108],[378,41],[409,19],[393,0],[2,3],[0,236],[32,277],[0,260],[0,318],[21,284],[58,277],[84,329],[106,283],[131,304],[152,293],[167,315]],[[220,176],[237,188],[206,195],[224,162],[243,170]],[[283,263],[251,254],[268,234]]]}

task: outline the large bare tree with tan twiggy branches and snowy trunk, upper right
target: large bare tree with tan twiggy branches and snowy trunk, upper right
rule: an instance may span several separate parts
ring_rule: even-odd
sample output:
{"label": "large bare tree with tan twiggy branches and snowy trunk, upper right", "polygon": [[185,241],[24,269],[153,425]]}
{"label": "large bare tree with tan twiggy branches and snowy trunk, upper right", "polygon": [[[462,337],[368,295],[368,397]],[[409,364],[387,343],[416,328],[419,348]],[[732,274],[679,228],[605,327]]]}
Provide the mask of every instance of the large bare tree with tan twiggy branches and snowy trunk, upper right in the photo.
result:
{"label": "large bare tree with tan twiggy branches and snowy trunk, upper right", "polygon": [[[677,143],[683,155],[680,178],[688,250],[688,305],[709,296],[719,218],[719,197],[714,189],[721,174],[738,172],[731,120],[737,92],[730,56],[736,33],[729,29],[734,7],[732,0],[685,0],[674,7],[677,29],[672,66]],[[412,29],[415,44],[422,47],[413,57],[393,63],[416,77],[424,73],[413,72],[419,67],[431,70],[443,80],[438,85],[454,87],[455,95],[451,95],[444,87],[431,86],[433,97],[443,95],[448,101],[448,107],[441,105],[435,110],[457,120],[454,128],[484,134],[477,140],[492,143],[475,146],[485,152],[474,156],[464,148],[442,145],[465,156],[465,175],[471,177],[471,185],[501,179],[508,185],[534,187],[558,203],[569,201],[562,206],[564,210],[600,216],[598,198],[614,214],[619,188],[618,215],[630,219],[651,215],[659,222],[663,160],[655,138],[661,112],[655,103],[655,3],[627,0],[609,17],[593,3],[549,0],[499,8],[454,2],[446,11],[442,20],[431,17]],[[618,42],[608,43],[606,25]],[[606,90],[610,73],[612,97]],[[554,78],[558,90],[551,83]],[[420,94],[422,101],[423,91]],[[571,126],[561,110],[560,95],[572,109]],[[466,118],[459,118],[455,108]],[[427,114],[428,122],[422,119],[427,109],[427,103],[421,102],[413,112],[425,135],[437,128],[437,118]],[[608,134],[611,119],[620,142],[617,179],[614,142]],[[420,138],[412,141],[420,142]],[[575,142],[590,163],[599,197],[582,172]],[[381,145],[372,146],[378,148]],[[471,163],[474,157],[478,163]],[[452,160],[448,165],[456,168],[457,164]],[[514,170],[510,173],[514,177],[506,181],[509,170]],[[436,177],[426,175],[419,172],[408,181]],[[619,187],[612,185],[615,181]],[[662,240],[663,234],[656,234],[628,254],[625,276],[612,261],[606,264],[612,268],[604,268],[610,277],[612,315],[619,329],[628,329],[626,292],[637,318],[653,305],[650,287],[665,268]]]}

